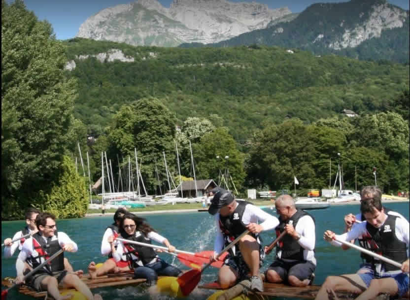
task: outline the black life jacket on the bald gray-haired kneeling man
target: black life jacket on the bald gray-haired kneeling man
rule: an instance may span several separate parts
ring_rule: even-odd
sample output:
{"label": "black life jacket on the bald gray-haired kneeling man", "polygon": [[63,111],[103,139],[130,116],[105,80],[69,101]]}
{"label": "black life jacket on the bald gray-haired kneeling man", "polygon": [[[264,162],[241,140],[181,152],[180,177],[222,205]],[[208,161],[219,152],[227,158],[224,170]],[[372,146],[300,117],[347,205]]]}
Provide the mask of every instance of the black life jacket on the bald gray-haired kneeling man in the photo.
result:
{"label": "black life jacket on the bald gray-haired kneeling man", "polygon": [[[286,224],[291,224],[296,229],[296,225],[298,224],[299,219],[304,216],[309,216],[310,218],[312,218],[313,223],[315,223],[313,216],[301,209],[296,210],[293,216],[290,217],[288,220],[282,220],[282,218],[279,217],[279,225],[275,228],[276,237],[279,236],[280,233],[282,233],[285,230]],[[280,259],[293,260],[299,262],[304,261],[304,250],[305,249],[298,243],[298,241],[295,240],[289,234],[285,234],[281,238],[281,240],[276,244],[276,256],[278,252],[281,251]]]}

